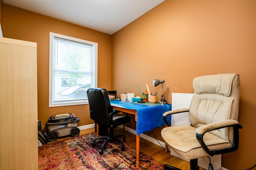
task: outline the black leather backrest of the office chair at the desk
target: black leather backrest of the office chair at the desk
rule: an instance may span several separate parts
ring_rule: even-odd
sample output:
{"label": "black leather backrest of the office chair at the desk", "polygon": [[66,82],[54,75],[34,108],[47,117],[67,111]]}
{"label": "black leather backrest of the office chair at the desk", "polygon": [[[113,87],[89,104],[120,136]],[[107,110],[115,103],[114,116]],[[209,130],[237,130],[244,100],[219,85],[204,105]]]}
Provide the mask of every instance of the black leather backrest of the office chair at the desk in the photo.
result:
{"label": "black leather backrest of the office chair at the desk", "polygon": [[90,117],[97,124],[110,125],[109,114],[113,112],[108,98],[108,92],[104,88],[89,88],[87,90],[90,106]]}

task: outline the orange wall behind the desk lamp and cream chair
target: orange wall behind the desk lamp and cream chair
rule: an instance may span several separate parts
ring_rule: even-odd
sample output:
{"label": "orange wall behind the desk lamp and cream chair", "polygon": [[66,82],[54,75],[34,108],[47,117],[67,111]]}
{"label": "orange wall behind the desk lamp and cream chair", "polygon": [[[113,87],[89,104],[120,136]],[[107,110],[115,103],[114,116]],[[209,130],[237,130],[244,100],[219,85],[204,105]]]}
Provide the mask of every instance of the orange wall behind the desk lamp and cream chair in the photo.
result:
{"label": "orange wall behind the desk lamp and cream chair", "polygon": [[230,170],[256,162],[256,1],[166,0],[112,35],[112,88],[139,95],[136,84],[152,93],[152,79],[164,79],[164,96],[193,93],[196,76],[238,73],[240,145],[222,155]]}

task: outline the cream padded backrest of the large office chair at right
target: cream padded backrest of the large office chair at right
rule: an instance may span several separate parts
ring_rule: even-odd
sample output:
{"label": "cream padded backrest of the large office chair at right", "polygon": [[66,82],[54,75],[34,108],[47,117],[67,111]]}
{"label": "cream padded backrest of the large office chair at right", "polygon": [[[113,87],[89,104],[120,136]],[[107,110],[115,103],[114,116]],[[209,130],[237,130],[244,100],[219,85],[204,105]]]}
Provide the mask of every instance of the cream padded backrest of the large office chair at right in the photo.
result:
{"label": "cream padded backrest of the large office chair at right", "polygon": [[[193,80],[194,97],[190,105],[190,123],[194,127],[226,119],[238,120],[240,78],[238,74],[215,74]],[[232,128],[211,133],[232,141]]]}

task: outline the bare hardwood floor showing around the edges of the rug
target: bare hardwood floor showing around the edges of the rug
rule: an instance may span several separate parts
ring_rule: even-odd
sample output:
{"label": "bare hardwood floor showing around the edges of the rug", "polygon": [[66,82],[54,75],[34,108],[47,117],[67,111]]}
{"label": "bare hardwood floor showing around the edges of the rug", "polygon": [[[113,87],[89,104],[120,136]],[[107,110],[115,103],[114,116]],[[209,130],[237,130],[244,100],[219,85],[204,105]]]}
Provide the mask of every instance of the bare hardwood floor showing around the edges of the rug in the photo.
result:
{"label": "bare hardwood floor showing around the edges of the rug", "polygon": [[[95,132],[94,128],[90,128],[90,129],[84,129],[80,131],[80,135],[85,135],[88,133],[93,133]],[[115,132],[117,133],[117,132]],[[136,135],[128,132],[128,131],[124,131],[123,129],[120,129],[120,134],[125,135],[126,137],[126,144],[136,148]],[[70,138],[70,137],[68,137]],[[58,139],[59,140],[63,140],[63,139],[67,139],[67,138],[62,138],[62,139]],[[158,162],[161,162],[162,164],[168,164],[177,168],[180,168],[182,170],[190,170],[190,166],[189,166],[189,162],[186,162],[180,158],[177,158],[175,156],[172,156],[170,154],[170,151],[168,151],[167,153],[164,151],[164,148],[155,145],[154,143],[151,143],[143,138],[140,138],[140,151],[143,152],[144,154],[154,158],[155,160],[157,160]],[[203,168],[200,168],[200,170],[204,170]]]}

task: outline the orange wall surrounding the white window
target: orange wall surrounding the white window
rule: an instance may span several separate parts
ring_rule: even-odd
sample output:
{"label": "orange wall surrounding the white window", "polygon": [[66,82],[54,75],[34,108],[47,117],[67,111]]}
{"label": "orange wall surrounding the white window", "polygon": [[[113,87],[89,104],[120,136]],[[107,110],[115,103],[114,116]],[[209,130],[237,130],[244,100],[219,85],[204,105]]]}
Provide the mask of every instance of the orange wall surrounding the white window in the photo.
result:
{"label": "orange wall surrounding the white window", "polygon": [[51,115],[60,113],[74,113],[80,118],[78,126],[92,124],[88,105],[48,107],[49,32],[98,43],[98,86],[110,90],[111,35],[4,4],[4,37],[37,43],[38,119],[42,127]]}

